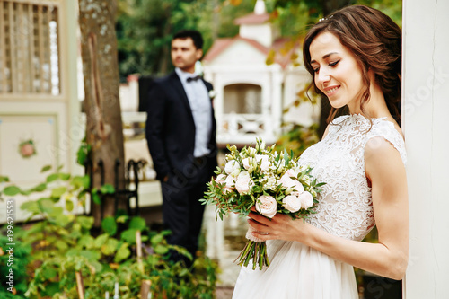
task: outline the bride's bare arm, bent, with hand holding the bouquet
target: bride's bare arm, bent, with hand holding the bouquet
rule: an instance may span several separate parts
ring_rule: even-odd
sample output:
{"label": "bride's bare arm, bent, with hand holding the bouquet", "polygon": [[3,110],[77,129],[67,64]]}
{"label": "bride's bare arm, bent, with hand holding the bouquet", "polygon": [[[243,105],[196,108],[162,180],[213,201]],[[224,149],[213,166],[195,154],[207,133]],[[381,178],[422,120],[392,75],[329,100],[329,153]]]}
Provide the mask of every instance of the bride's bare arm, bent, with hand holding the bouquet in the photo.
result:
{"label": "bride's bare arm, bent, with hand holding the bouquet", "polygon": [[327,233],[288,215],[271,221],[251,213],[250,221],[262,240],[281,239],[302,242],[335,259],[383,277],[401,279],[409,259],[409,203],[407,179],[398,151],[383,138],[373,138],[365,146],[365,171],[372,183],[378,243],[351,241]]}

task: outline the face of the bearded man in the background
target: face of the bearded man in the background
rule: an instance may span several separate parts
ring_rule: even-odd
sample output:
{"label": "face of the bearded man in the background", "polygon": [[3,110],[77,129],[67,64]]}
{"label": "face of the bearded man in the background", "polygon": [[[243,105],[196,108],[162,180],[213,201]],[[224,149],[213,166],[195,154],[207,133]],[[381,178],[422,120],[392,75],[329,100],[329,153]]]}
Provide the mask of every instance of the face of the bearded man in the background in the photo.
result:
{"label": "face of the bearded man in the background", "polygon": [[172,40],[172,63],[184,72],[194,73],[195,63],[203,55],[203,50],[198,49],[193,44],[193,40],[176,39]]}

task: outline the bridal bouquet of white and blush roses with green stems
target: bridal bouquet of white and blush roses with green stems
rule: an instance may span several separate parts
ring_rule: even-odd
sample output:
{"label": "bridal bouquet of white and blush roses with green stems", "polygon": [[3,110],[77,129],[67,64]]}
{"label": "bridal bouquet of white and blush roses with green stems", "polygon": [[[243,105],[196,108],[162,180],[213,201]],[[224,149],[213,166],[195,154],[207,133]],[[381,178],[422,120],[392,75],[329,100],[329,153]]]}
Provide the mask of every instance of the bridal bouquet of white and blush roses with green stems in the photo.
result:
{"label": "bridal bouquet of white and blush roses with green stems", "polygon": [[[228,145],[225,169],[218,167],[216,179],[207,183],[206,196],[200,199],[203,205],[215,205],[222,220],[229,212],[247,216],[251,207],[268,218],[280,213],[304,221],[313,214],[324,183],[313,179],[312,168],[298,165],[293,152],[278,154],[274,148],[260,139],[255,147],[245,146],[240,152],[235,145]],[[238,264],[246,267],[252,260],[252,269],[269,267],[267,245],[252,232],[250,226],[246,233],[249,241],[237,258]]]}

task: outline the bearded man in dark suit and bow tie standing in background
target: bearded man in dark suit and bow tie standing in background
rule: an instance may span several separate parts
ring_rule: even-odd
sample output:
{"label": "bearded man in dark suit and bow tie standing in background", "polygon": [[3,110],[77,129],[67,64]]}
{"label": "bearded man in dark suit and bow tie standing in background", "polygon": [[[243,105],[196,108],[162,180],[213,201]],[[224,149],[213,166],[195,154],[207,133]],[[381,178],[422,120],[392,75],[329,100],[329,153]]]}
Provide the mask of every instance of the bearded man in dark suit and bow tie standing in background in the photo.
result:
{"label": "bearded man in dark suit and bow tie standing in background", "polygon": [[[163,224],[167,241],[185,247],[195,259],[204,197],[216,169],[216,119],[209,91],[212,84],[195,74],[203,56],[198,31],[180,31],[172,39],[174,72],[157,80],[149,92],[146,140],[163,191]],[[185,260],[172,252],[173,260]]]}

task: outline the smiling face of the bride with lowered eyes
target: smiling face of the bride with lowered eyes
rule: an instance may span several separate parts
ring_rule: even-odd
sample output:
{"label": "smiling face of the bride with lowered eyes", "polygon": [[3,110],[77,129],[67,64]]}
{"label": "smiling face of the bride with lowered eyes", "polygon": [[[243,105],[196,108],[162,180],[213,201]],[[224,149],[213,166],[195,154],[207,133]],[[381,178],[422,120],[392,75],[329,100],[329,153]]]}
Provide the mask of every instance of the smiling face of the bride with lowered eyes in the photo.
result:
{"label": "smiling face of the bride with lowered eyes", "polygon": [[348,105],[351,113],[360,112],[365,84],[356,57],[330,32],[320,33],[310,45],[315,84],[334,108]]}

